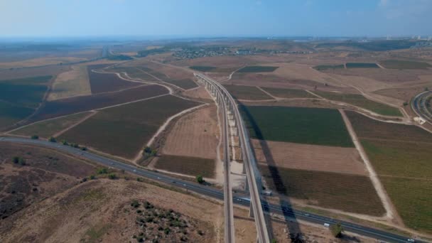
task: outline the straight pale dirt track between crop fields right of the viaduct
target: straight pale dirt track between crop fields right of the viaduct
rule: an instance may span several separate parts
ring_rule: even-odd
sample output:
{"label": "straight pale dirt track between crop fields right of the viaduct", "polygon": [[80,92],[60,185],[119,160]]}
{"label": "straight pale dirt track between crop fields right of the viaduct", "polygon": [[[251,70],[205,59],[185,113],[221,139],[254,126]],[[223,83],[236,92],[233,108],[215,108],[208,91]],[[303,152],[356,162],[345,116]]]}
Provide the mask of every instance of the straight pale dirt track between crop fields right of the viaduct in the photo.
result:
{"label": "straight pale dirt track between crop fields right of the viaduct", "polygon": [[[384,209],[386,210],[386,216],[393,220],[395,216],[397,215],[396,210],[394,210],[394,205],[392,205],[391,200],[389,198],[389,195],[387,194],[387,191],[384,190],[384,186],[382,185],[381,181],[378,178],[377,173],[374,171],[374,167],[372,166],[372,163],[370,163],[369,158],[367,157],[367,154],[365,150],[362,147],[362,144],[360,144],[360,141],[357,139],[357,134],[355,134],[354,129],[352,128],[352,124],[350,119],[348,119],[347,115],[342,109],[339,109],[339,112],[342,116],[343,121],[345,121],[345,126],[347,126],[347,130],[351,136],[352,142],[355,145],[355,148],[357,148],[357,151],[360,153],[360,157],[362,158],[363,162],[365,163],[365,166],[367,168],[367,171],[369,171],[369,178],[372,181],[372,184],[374,185],[375,190],[377,191],[377,194],[379,198],[382,201],[382,204],[384,205]],[[401,222],[399,219],[399,215],[397,217],[397,220]],[[403,222],[401,222],[403,225]]]}

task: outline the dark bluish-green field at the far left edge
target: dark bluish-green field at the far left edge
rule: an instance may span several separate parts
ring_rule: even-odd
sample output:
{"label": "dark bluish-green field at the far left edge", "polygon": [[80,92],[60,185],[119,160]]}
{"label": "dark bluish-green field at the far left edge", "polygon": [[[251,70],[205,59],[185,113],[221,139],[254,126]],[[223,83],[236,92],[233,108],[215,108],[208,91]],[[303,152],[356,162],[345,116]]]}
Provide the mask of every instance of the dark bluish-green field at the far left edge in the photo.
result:
{"label": "dark bluish-green field at the far left edge", "polygon": [[0,130],[33,114],[43,102],[51,76],[0,80]]}

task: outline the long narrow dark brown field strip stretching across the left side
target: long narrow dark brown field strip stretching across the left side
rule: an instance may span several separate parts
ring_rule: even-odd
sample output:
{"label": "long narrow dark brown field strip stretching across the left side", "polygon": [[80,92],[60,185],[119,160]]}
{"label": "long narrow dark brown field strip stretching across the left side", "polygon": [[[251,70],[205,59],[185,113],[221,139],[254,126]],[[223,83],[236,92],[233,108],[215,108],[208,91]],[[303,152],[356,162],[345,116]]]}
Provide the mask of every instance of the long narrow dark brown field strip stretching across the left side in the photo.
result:
{"label": "long narrow dark brown field strip stretching across the left side", "polygon": [[146,99],[167,94],[168,90],[165,87],[160,85],[145,85],[119,92],[58,99],[51,102],[46,102],[45,106],[39,109],[38,113],[31,117],[29,122],[61,117],[78,112],[86,112],[92,109],[99,109],[102,107],[109,107],[126,102],[134,102],[139,99]]}

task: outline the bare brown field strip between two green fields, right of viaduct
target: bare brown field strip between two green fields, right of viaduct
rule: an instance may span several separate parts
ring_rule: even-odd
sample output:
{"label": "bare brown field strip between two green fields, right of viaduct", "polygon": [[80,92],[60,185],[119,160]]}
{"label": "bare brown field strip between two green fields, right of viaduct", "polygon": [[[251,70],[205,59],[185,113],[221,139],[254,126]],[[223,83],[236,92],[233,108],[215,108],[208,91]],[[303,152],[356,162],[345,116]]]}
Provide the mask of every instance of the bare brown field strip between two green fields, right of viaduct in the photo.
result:
{"label": "bare brown field strip between two green fields, right of viaduct", "polygon": [[[284,168],[367,175],[362,158],[355,148],[259,141],[257,139],[252,139],[252,144],[259,162],[266,163],[266,158],[269,158],[276,166]],[[269,164],[271,163],[269,161]]]}

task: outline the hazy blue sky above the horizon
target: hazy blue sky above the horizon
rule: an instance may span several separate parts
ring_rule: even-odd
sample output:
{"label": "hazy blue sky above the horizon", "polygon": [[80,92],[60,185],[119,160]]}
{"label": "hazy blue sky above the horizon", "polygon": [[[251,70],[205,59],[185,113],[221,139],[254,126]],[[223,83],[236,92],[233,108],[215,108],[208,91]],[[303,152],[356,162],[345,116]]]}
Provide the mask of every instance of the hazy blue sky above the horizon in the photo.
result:
{"label": "hazy blue sky above the horizon", "polygon": [[432,36],[432,0],[0,0],[8,36]]}

